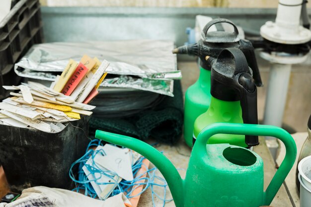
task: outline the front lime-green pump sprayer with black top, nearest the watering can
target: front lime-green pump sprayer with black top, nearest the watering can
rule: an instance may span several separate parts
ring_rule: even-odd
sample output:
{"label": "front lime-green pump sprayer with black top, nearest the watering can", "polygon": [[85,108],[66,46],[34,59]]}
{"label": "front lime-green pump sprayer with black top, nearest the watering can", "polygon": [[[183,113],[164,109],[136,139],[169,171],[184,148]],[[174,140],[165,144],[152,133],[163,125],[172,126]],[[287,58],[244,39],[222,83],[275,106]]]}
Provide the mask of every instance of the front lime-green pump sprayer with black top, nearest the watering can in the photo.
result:
{"label": "front lime-green pump sprayer with black top, nearest the watering can", "polygon": [[[194,123],[193,141],[208,125],[218,122],[258,124],[257,88],[253,70],[237,48],[224,49],[218,58],[208,59],[211,70],[211,105]],[[215,135],[208,143],[230,143],[247,147],[258,145],[258,137]]]}

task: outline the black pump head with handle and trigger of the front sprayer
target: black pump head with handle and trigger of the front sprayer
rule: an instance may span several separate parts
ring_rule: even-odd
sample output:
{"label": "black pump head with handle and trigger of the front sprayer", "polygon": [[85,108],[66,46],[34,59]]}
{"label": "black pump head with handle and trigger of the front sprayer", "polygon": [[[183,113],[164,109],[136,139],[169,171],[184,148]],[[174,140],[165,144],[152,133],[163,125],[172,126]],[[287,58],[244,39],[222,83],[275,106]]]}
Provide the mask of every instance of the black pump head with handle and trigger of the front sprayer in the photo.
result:
{"label": "black pump head with handle and trigger of the front sprayer", "polygon": [[[240,101],[244,124],[258,124],[257,88],[243,52],[224,49],[212,62],[211,94],[224,101]],[[248,146],[258,145],[258,136],[245,135]]]}

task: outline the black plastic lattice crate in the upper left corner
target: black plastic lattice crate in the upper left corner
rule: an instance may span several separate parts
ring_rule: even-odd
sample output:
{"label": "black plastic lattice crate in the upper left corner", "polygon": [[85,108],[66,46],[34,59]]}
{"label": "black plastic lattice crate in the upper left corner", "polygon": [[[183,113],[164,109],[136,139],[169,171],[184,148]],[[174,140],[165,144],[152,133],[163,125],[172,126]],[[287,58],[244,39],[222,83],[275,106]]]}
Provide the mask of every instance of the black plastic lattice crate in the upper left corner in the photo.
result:
{"label": "black plastic lattice crate in the upper left corner", "polygon": [[0,22],[0,100],[8,96],[1,86],[20,81],[14,64],[29,50],[43,42],[39,0],[14,0],[15,4]]}

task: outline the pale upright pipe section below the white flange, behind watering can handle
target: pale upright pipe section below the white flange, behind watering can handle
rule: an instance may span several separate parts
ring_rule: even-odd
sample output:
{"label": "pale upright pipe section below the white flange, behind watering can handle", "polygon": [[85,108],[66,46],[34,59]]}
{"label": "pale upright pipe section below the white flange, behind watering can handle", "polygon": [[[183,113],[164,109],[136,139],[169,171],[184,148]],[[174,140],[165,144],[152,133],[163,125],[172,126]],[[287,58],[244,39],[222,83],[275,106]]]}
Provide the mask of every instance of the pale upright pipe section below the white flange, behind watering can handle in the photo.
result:
{"label": "pale upright pipe section below the white flange, behind watering can handle", "polygon": [[271,63],[263,124],[282,126],[292,65]]}

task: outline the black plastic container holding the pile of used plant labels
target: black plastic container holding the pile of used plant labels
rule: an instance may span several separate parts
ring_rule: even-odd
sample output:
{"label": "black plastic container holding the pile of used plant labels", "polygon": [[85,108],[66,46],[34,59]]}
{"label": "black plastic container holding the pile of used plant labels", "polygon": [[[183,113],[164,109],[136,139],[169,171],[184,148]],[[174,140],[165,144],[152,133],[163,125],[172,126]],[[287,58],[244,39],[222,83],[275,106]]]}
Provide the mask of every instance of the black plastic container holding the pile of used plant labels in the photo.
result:
{"label": "black plastic container holding the pile of used plant labels", "polygon": [[[10,190],[47,186],[73,189],[73,162],[87,148],[89,116],[81,116],[59,133],[0,125],[0,161]],[[74,172],[77,172],[74,168]]]}

